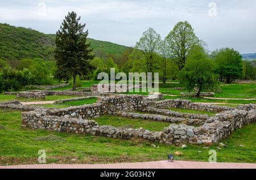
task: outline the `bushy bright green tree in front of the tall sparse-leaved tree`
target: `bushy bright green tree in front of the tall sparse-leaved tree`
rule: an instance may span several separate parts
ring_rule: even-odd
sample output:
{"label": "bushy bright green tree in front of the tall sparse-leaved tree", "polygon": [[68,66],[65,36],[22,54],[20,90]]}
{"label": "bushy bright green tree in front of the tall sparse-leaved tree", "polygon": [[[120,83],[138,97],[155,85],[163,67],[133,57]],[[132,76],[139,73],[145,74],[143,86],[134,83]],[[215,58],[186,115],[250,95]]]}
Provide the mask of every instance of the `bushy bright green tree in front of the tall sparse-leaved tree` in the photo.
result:
{"label": "bushy bright green tree in front of the tall sparse-leaved tree", "polygon": [[199,89],[197,92],[197,97],[199,97],[201,91],[214,90],[217,87],[217,75],[214,71],[214,62],[208,58],[205,50],[201,46],[194,46],[181,71],[181,83],[189,92],[195,88]]}

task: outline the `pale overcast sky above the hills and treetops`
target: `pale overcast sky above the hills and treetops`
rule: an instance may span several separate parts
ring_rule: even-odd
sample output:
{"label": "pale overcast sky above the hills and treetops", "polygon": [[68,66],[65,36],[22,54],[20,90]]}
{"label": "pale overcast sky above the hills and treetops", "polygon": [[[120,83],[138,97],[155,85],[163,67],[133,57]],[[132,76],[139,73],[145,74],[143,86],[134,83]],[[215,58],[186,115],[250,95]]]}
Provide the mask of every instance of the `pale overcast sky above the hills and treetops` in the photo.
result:
{"label": "pale overcast sky above the hills and treetops", "polygon": [[97,40],[134,46],[149,27],[164,38],[188,20],[209,50],[256,52],[255,0],[0,0],[1,23],[44,33],[56,33],[68,11],[76,11]]}

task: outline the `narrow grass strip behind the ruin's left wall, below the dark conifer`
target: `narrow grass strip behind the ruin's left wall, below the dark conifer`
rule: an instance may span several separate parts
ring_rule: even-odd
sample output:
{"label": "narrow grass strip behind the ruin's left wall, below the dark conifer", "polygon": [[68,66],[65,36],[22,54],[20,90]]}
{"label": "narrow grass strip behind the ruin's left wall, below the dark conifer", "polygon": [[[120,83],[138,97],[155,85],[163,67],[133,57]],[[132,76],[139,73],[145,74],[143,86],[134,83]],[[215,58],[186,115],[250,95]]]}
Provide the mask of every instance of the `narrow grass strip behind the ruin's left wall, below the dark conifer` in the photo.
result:
{"label": "narrow grass strip behind the ruin's left wall, below the dark conifer", "polygon": [[97,102],[97,98],[89,98],[86,100],[79,100],[79,101],[69,101],[69,102],[64,102],[63,104],[44,104],[44,105],[38,105],[38,106],[46,107],[46,108],[68,108],[70,106],[93,104],[95,102]]}

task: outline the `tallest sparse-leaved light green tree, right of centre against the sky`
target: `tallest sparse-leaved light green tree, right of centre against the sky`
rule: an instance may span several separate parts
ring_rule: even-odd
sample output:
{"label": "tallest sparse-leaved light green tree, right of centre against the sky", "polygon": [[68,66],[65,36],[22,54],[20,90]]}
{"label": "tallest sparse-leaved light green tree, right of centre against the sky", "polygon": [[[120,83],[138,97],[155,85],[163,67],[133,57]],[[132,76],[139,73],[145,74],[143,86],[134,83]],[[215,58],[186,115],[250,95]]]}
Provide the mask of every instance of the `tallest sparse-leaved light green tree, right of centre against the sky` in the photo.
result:
{"label": "tallest sparse-leaved light green tree, right of centre against the sky", "polygon": [[166,37],[168,57],[174,59],[179,70],[185,66],[188,53],[194,45],[199,44],[194,29],[187,21],[179,22]]}

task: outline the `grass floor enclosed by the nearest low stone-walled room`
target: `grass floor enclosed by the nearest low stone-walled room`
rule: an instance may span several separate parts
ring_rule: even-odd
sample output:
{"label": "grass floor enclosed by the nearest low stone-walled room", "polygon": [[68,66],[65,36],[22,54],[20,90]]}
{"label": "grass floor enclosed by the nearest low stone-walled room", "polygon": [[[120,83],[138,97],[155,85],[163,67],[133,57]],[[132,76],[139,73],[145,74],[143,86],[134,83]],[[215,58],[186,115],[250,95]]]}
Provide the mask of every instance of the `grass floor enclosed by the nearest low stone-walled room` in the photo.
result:
{"label": "grass floor enclosed by the nearest low stone-walled room", "polygon": [[95,119],[100,126],[114,126],[114,127],[125,127],[125,128],[140,128],[143,127],[150,131],[163,131],[164,127],[168,127],[171,123],[168,122],[158,122],[158,121],[148,121],[144,119],[134,119],[134,118],[123,118],[115,117],[112,115],[104,115],[100,118]]}

